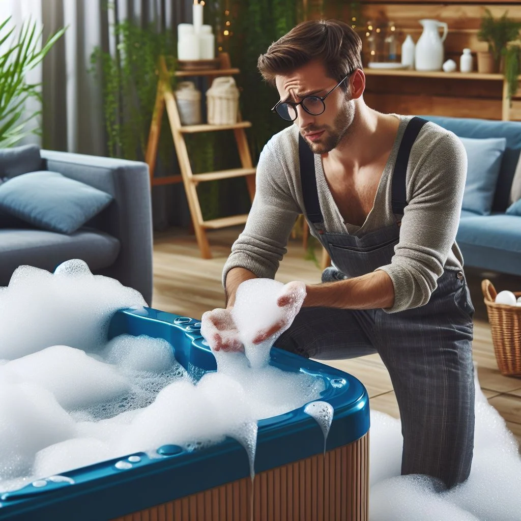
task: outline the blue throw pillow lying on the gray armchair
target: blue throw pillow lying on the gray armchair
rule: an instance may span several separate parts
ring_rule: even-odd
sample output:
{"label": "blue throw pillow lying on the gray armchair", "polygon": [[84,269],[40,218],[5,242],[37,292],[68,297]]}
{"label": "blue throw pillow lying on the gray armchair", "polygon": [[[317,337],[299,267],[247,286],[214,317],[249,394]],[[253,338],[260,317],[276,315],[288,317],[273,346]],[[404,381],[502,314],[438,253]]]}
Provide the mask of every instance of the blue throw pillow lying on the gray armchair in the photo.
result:
{"label": "blue throw pillow lying on the gray armchair", "polygon": [[0,184],[0,210],[58,233],[72,233],[114,198],[58,172],[24,173]]}

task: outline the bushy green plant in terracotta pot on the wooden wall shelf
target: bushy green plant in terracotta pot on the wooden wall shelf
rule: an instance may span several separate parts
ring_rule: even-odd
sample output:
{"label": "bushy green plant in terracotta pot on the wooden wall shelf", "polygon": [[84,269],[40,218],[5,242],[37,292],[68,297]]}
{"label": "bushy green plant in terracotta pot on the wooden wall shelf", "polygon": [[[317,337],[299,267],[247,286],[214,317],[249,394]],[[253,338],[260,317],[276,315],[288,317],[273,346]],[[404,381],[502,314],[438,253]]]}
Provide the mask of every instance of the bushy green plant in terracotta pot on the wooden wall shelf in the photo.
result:
{"label": "bushy green plant in terracotta pot on the wooden wall shelf", "polygon": [[489,54],[487,56],[486,52],[478,52],[479,72],[499,72],[508,43],[519,38],[521,21],[512,20],[507,14],[508,11],[505,11],[501,18],[494,19],[490,10],[485,9],[478,31],[478,40],[488,43]]}

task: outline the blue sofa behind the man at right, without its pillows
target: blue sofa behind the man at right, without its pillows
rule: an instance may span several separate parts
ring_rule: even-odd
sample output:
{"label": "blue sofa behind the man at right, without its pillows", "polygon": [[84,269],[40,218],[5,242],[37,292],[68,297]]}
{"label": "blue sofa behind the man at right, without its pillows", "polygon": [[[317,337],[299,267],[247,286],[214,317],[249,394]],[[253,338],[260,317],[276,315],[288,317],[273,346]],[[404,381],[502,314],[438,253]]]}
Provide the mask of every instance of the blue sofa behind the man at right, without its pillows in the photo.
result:
{"label": "blue sofa behind the man at right, without its pillows", "polygon": [[[456,242],[465,266],[521,276],[521,216],[506,215],[521,152],[521,122],[422,116],[460,138],[506,138],[490,215],[462,210]],[[519,173],[517,174],[519,175]]]}

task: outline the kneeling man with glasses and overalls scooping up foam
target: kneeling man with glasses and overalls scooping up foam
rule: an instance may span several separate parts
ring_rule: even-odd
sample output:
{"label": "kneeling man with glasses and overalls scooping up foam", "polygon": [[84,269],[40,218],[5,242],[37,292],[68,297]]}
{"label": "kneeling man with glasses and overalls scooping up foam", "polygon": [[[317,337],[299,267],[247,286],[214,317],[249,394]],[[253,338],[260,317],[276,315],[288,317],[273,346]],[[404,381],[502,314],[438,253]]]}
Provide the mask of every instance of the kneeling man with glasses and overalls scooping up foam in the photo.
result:
{"label": "kneeling man with glasses and overalls scooping up foam", "polygon": [[[363,99],[361,40],[345,23],[301,23],[258,59],[274,111],[293,125],[264,147],[245,229],[224,267],[227,309],[204,316],[215,350],[238,350],[230,309],[244,280],[273,278],[300,213],[332,266],[307,284],[276,345],[307,357],[378,352],[404,437],[402,474],[451,487],[470,472],[474,308],[455,243],[467,158],[432,122],[381,114]],[[287,304],[290,283],[279,305]],[[260,331],[260,342],[287,324]]]}

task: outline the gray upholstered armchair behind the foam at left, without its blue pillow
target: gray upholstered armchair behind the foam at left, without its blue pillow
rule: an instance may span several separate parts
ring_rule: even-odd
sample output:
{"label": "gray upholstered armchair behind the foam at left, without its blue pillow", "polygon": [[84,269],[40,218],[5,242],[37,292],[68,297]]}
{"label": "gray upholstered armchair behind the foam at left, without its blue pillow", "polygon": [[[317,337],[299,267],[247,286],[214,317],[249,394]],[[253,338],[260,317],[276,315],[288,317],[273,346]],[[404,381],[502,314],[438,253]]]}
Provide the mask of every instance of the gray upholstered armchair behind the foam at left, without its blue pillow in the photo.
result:
{"label": "gray upholstered armchair behind the foam at left, without its blue pillow", "polygon": [[[24,166],[25,172],[59,172],[110,193],[114,201],[70,235],[25,226],[22,221],[0,214],[0,286],[7,286],[20,265],[53,271],[61,262],[80,258],[94,274],[113,277],[138,290],[151,305],[152,211],[147,165],[47,150],[34,159],[34,148],[32,153],[33,164]],[[12,177],[7,170],[4,175]],[[24,171],[15,175],[19,173]]]}

